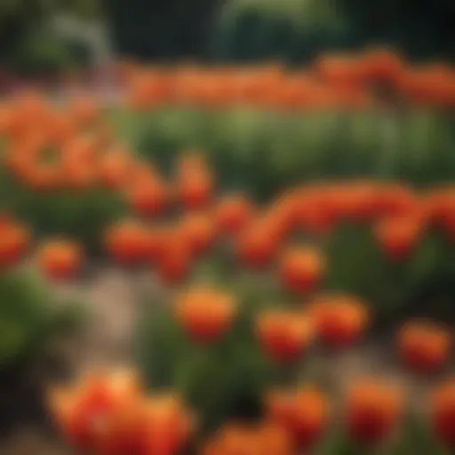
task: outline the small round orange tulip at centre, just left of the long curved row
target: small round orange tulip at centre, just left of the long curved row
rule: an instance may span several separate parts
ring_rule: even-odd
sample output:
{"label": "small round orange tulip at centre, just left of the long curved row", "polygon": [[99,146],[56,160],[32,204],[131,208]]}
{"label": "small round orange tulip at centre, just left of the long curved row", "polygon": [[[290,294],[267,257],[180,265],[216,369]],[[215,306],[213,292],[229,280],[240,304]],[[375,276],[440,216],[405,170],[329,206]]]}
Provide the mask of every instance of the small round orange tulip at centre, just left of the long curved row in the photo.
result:
{"label": "small round orange tulip at centre, just left of the long curved row", "polygon": [[215,208],[215,223],[222,232],[237,234],[251,220],[252,210],[245,196],[227,196]]}

